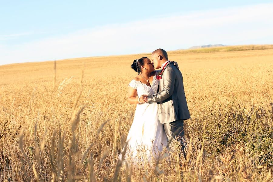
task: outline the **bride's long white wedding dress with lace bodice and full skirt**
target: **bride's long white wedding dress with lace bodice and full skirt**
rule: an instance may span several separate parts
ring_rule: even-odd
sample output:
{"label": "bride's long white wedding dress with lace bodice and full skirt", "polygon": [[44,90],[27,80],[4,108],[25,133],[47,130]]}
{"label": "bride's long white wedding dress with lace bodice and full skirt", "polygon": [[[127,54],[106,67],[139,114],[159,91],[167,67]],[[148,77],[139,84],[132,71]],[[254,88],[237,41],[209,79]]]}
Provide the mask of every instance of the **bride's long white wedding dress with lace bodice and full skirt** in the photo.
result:
{"label": "bride's long white wedding dress with lace bodice and full skirt", "polygon": [[[137,96],[143,94],[155,95],[159,80],[156,79],[159,71],[153,76],[151,86],[148,86],[140,81],[132,80],[129,86],[136,89]],[[157,113],[157,103],[139,103],[136,106],[135,116],[132,126],[129,130],[126,142],[127,150],[125,160],[128,163],[141,165],[150,162],[152,159],[157,159],[158,152],[167,146],[168,139],[163,129],[163,124],[159,122]],[[123,150],[125,147],[123,147]],[[119,159],[121,159],[121,155]]]}

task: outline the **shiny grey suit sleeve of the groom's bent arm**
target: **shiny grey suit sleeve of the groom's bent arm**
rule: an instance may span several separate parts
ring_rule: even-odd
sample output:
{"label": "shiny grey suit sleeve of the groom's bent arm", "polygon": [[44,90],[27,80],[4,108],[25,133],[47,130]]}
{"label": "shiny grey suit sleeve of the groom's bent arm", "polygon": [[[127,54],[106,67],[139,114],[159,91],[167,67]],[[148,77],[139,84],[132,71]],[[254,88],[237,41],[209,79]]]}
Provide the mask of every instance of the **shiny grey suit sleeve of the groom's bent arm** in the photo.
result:
{"label": "shiny grey suit sleeve of the groom's bent arm", "polygon": [[156,95],[148,96],[148,103],[158,103],[169,98],[174,92],[175,72],[172,67],[167,67],[163,72],[163,90]]}

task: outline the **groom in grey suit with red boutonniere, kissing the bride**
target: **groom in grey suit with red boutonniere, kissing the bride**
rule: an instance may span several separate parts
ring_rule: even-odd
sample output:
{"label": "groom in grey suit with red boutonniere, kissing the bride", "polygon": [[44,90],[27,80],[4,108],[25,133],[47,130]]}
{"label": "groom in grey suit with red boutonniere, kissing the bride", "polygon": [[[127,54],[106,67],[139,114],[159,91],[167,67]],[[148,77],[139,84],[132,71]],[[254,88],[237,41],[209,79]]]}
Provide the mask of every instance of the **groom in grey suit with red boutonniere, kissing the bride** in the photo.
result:
{"label": "groom in grey suit with red boutonniere, kissing the bride", "polygon": [[157,110],[160,123],[169,140],[170,150],[175,150],[176,138],[181,144],[181,150],[184,153],[184,120],[190,118],[184,92],[183,77],[179,69],[168,60],[167,52],[163,49],[153,51],[151,61],[155,69],[161,67],[162,71],[157,76],[159,86],[156,95],[147,97],[149,104],[157,103]]}

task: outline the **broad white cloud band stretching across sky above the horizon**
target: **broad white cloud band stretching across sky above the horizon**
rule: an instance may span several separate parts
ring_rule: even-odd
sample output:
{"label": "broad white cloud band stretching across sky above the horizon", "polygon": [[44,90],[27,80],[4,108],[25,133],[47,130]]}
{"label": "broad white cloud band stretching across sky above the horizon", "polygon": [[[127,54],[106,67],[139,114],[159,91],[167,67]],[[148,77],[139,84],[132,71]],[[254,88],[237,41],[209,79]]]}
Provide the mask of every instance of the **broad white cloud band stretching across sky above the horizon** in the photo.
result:
{"label": "broad white cloud band stretching across sky above the horizon", "polygon": [[[273,3],[171,15],[1,45],[2,64],[174,50],[203,44],[273,43]],[[1,38],[1,37],[0,37]],[[0,64],[1,64],[0,63]]]}

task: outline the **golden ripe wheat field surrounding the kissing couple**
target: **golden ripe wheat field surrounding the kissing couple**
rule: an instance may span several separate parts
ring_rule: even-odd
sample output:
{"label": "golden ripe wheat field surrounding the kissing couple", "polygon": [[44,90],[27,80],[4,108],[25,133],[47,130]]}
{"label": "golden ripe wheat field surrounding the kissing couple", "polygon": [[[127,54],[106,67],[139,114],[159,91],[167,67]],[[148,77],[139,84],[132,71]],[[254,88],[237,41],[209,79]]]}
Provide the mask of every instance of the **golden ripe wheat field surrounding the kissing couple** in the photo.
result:
{"label": "golden ripe wheat field surrounding the kissing couple", "polygon": [[150,53],[0,66],[0,181],[272,181],[273,46],[230,48],[168,52],[187,157],[140,168],[117,156],[136,107],[130,66]]}

